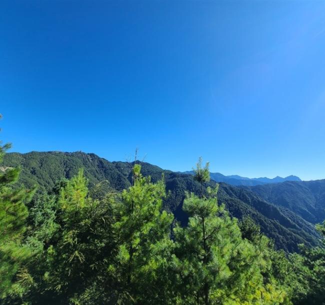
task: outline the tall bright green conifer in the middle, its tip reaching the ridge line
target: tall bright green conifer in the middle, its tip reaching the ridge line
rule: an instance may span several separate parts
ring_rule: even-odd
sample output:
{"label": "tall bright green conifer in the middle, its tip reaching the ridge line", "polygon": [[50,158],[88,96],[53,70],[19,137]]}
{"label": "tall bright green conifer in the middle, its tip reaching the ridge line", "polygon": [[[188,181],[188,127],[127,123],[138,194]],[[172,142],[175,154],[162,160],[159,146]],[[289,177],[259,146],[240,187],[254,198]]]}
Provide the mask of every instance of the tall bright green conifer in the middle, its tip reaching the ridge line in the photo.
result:
{"label": "tall bright green conifer in the middle, its tip reaching the ridge line", "polygon": [[162,180],[152,183],[142,177],[140,165],[133,168],[133,185],[122,192],[116,206],[114,234],[119,250],[109,266],[117,278],[117,302],[122,304],[167,304],[166,272],[172,249],[172,215],[162,211],[165,195]]}

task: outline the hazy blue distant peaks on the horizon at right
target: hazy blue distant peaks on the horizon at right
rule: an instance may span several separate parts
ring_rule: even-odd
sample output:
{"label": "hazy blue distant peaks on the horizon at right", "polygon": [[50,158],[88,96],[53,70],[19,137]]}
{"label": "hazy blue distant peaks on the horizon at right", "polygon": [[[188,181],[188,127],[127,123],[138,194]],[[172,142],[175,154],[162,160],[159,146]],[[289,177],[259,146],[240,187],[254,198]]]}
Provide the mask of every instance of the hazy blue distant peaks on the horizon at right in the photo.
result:
{"label": "hazy blue distant peaks on the horizon at right", "polygon": [[[183,174],[190,174],[193,175],[193,171],[185,171],[182,172]],[[230,175],[225,176],[220,173],[210,173],[210,178],[214,180],[215,182],[224,182],[231,185],[247,185],[247,186],[255,186],[255,185],[261,185],[261,184],[268,184],[268,183],[280,183],[284,181],[301,181],[301,179],[297,176],[287,176],[285,178],[276,176],[275,178],[266,178],[266,177],[260,177],[260,178],[247,178],[247,177],[241,177],[238,175]]]}

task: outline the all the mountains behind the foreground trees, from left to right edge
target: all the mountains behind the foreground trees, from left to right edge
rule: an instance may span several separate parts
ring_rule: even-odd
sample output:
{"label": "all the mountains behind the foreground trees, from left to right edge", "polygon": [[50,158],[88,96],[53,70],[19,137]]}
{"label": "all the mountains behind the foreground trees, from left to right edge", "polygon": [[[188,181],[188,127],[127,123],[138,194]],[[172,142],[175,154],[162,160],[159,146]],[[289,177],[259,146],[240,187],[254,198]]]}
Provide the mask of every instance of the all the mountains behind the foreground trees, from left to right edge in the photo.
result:
{"label": "all the mountains behind the foreground trees, from left to right edge", "polygon": [[[132,181],[132,165],[129,162],[109,162],[91,153],[30,152],[6,154],[1,167],[2,170],[6,167],[20,167],[18,184],[26,187],[37,184],[39,192],[51,191],[58,181],[71,178],[79,168],[84,168],[91,192],[102,181],[107,181],[100,184],[102,188],[122,190],[129,187]],[[163,170],[145,162],[141,163],[141,173],[144,176],[150,175],[153,181],[161,179],[164,174],[168,195],[163,206],[173,212],[176,220],[185,224],[187,215],[182,211],[185,192],[198,194],[199,184],[188,173]],[[220,181],[213,174],[212,177],[205,186],[214,187],[213,179]],[[218,198],[220,203],[225,204],[230,215],[238,219],[250,215],[259,224],[261,231],[274,239],[275,245],[285,251],[296,251],[299,243],[317,243],[318,234],[314,223],[325,218],[325,180],[265,184],[265,181],[275,181],[238,179],[238,176],[226,178],[228,184],[220,183]],[[229,185],[236,181],[242,182],[240,186]],[[244,182],[261,182],[262,185],[247,186],[243,185]]]}

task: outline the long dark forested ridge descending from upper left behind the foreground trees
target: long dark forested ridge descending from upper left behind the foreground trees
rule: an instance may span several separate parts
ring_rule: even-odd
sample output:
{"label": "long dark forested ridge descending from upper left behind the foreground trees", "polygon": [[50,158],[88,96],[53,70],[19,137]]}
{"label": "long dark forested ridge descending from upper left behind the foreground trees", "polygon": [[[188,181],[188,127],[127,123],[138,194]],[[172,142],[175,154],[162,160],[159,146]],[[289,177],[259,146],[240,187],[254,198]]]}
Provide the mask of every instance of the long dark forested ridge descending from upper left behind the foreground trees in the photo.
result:
{"label": "long dark forested ridge descending from upper left behind the foreground trees", "polygon": [[[131,185],[132,163],[109,162],[95,154],[82,152],[30,152],[27,154],[8,153],[4,156],[3,167],[20,167],[19,183],[26,187],[39,185],[39,189],[49,191],[62,178],[71,178],[83,168],[89,181],[90,189],[98,183],[101,188],[112,187],[122,190]],[[150,175],[153,182],[158,181],[164,174],[168,196],[164,199],[164,208],[172,211],[175,218],[183,225],[187,216],[182,210],[185,192],[199,193],[199,184],[189,174],[175,173],[142,162],[141,173]],[[102,183],[107,181],[108,183]],[[213,187],[214,181],[206,186]],[[314,245],[318,234],[313,225],[290,209],[276,207],[261,199],[256,193],[224,183],[220,184],[219,200],[226,205],[232,216],[241,219],[250,215],[261,227],[261,231],[275,241],[278,248],[286,251],[297,250],[299,243]]]}

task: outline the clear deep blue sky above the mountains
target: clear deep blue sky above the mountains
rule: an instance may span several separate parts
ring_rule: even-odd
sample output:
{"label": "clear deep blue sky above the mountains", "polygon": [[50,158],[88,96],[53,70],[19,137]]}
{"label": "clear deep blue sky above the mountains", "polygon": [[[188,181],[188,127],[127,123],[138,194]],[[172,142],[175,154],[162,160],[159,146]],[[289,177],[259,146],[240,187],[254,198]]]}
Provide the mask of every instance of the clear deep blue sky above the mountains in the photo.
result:
{"label": "clear deep blue sky above the mountains", "polygon": [[12,151],[325,178],[325,2],[0,2]]}

